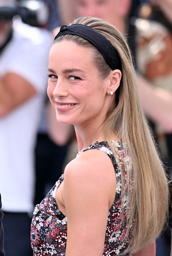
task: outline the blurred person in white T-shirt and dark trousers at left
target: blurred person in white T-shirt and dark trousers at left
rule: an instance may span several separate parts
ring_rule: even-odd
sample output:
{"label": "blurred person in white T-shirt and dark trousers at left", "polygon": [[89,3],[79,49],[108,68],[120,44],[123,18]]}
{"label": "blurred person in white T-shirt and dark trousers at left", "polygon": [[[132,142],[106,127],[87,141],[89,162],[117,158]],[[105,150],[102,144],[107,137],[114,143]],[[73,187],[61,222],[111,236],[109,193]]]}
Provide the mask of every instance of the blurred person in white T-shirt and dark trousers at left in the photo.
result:
{"label": "blurred person in white T-shirt and dark trousers at left", "polygon": [[[8,3],[0,0],[0,4]],[[12,17],[0,16],[0,19],[0,188],[4,247],[6,256],[30,256],[34,144],[47,86],[52,35],[21,20],[12,21]]]}

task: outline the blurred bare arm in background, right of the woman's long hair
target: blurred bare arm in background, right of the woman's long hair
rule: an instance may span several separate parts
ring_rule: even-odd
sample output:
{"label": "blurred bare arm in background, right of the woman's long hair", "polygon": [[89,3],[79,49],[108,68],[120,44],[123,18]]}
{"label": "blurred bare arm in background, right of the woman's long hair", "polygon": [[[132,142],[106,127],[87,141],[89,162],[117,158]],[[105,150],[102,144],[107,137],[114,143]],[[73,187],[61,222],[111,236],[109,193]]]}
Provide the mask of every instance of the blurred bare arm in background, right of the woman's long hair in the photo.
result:
{"label": "blurred bare arm in background, right of the woman's long hair", "polygon": [[146,115],[164,128],[172,131],[172,92],[152,86],[140,74],[137,75],[140,101]]}

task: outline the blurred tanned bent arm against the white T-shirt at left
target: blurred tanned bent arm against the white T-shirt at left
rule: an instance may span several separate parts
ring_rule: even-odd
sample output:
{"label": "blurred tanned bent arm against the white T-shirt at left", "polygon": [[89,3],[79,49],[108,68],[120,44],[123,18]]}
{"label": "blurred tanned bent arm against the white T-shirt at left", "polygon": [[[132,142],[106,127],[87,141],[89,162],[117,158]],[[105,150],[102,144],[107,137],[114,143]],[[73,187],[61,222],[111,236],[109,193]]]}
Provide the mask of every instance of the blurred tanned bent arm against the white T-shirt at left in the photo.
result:
{"label": "blurred tanned bent arm against the white T-shirt at left", "polygon": [[7,73],[0,78],[0,117],[30,99],[36,93],[34,87],[21,76]]}

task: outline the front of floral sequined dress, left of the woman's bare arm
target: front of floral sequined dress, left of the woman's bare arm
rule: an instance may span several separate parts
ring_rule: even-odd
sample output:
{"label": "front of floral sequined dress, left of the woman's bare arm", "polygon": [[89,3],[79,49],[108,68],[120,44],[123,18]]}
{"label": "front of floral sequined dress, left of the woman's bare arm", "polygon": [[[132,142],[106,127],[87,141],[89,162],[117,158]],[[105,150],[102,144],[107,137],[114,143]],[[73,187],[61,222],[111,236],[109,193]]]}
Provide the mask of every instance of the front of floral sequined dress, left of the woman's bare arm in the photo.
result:
{"label": "front of floral sequined dress, left of the woman's bare arm", "polygon": [[65,255],[67,217],[59,211],[55,201],[55,193],[62,180],[63,175],[42,202],[35,206],[31,224],[33,256]]}

